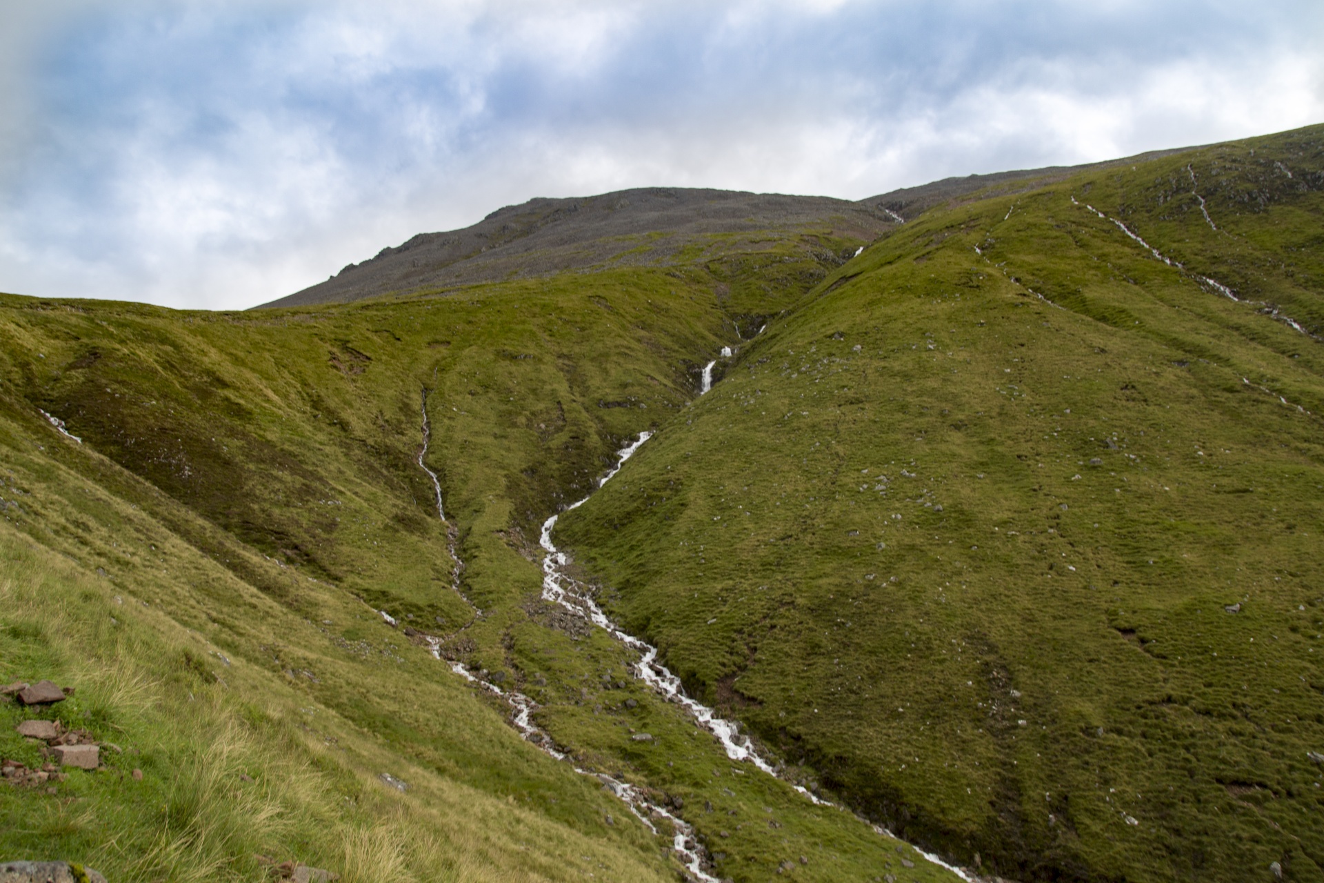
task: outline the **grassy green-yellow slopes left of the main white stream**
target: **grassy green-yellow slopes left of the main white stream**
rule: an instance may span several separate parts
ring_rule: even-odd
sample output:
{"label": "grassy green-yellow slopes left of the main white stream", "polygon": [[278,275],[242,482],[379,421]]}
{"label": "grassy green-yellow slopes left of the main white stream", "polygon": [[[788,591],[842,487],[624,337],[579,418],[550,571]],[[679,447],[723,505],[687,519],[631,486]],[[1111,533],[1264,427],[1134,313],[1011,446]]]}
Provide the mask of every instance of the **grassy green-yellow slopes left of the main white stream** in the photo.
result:
{"label": "grassy green-yellow slopes left of the main white stream", "polygon": [[[348,880],[681,875],[661,819],[651,834],[522,741],[507,706],[432,658],[433,634],[535,695],[575,765],[691,821],[724,875],[899,870],[895,841],[732,765],[625,683],[618,643],[539,601],[540,522],[675,420],[736,323],[859,245],[806,236],[834,246],[826,266],[792,237],[344,307],[4,298],[0,680],[78,694],[0,704],[0,753],[38,760],[13,732],[33,714],[120,751],[54,793],[0,788],[0,857],[117,880],[253,879],[257,855]],[[424,413],[445,522],[417,463]],[[643,727],[647,745],[629,739]]]}

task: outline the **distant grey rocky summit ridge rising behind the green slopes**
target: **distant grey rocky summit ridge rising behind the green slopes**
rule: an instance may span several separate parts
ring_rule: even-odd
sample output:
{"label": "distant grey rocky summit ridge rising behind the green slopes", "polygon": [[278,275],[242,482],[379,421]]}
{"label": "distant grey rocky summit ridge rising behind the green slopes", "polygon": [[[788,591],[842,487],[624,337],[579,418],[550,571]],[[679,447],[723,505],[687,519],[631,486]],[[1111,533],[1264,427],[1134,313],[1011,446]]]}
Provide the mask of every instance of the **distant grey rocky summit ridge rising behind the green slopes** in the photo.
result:
{"label": "distant grey rocky summit ridge rising behind the green slopes", "polygon": [[874,240],[906,217],[968,193],[1025,188],[1087,168],[1143,162],[1170,152],[1088,165],[947,177],[858,203],[674,187],[581,199],[534,199],[498,209],[462,230],[420,233],[361,263],[350,263],[326,282],[262,306],[348,303],[569,270],[731,262],[763,252],[772,241],[798,245],[802,253],[830,262],[833,256],[824,253],[820,234]]}

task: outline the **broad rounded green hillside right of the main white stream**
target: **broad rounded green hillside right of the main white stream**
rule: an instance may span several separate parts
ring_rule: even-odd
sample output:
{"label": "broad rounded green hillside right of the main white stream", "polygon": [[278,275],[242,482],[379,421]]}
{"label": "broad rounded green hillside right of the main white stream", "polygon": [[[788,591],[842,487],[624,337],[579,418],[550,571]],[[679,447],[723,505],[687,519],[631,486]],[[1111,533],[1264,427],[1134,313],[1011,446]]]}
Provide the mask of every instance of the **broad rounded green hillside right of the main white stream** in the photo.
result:
{"label": "broad rounded green hillside right of the main white stream", "polygon": [[929,210],[561,545],[695,695],[920,843],[1324,879],[1321,232],[1324,127]]}

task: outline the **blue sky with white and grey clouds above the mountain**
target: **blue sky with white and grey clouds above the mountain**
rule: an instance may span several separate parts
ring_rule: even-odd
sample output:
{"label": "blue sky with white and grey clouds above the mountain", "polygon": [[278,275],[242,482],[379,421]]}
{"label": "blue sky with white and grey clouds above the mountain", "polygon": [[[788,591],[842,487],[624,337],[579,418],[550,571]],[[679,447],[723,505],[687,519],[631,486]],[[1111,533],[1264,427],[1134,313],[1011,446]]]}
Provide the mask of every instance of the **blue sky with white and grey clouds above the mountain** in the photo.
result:
{"label": "blue sky with white and grey clouds above the mountain", "polygon": [[0,4],[0,291],[237,310],[536,196],[1324,122],[1319,0]]}

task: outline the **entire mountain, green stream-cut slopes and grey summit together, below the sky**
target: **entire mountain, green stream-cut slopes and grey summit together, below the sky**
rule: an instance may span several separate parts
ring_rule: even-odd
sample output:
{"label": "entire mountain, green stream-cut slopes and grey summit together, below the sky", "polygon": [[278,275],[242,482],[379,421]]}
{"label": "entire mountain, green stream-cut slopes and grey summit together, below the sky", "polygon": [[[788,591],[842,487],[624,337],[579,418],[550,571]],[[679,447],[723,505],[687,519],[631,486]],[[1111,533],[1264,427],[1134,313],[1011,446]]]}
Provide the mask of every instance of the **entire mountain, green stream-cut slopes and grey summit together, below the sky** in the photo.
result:
{"label": "entire mountain, green stream-cut slopes and grey summit together, below the sky", "polygon": [[3,855],[1320,879],[1321,191],[1316,126],[4,297],[0,680],[77,691],[0,756],[105,769]]}

